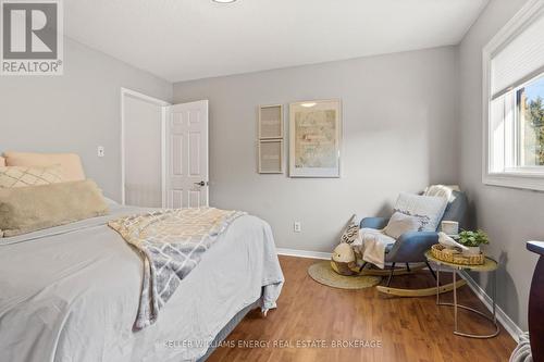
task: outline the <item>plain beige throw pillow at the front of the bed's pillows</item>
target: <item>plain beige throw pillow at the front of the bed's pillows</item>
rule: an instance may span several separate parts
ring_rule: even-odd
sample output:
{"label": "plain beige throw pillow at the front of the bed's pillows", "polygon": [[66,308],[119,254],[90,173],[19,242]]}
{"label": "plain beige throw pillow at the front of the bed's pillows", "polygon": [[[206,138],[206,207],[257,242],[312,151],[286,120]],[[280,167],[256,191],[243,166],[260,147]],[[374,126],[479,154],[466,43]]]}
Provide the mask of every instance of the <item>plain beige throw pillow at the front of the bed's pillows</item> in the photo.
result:
{"label": "plain beige throw pillow at the front of the bed's pillows", "polygon": [[0,230],[15,236],[108,214],[94,180],[0,188]]}

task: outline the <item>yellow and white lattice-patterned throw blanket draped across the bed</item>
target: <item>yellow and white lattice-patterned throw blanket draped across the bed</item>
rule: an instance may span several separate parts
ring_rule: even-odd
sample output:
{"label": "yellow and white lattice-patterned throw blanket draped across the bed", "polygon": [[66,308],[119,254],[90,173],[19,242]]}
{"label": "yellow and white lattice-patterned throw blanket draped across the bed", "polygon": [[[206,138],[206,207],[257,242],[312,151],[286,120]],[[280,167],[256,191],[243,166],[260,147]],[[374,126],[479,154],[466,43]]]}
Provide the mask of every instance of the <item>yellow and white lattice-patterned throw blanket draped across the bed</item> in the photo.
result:
{"label": "yellow and white lattice-patterned throw blanket draped across the bed", "polygon": [[244,212],[214,208],[157,210],[108,223],[144,260],[144,279],[134,329],[154,323],[201,255]]}

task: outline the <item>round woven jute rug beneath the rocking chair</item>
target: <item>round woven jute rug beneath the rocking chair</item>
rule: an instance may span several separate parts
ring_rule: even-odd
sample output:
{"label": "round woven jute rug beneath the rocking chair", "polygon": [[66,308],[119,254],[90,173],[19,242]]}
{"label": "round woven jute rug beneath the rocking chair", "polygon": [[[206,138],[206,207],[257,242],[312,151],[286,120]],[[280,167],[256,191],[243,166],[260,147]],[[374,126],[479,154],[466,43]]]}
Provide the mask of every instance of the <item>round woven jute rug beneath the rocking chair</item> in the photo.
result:
{"label": "round woven jute rug beneath the rocking chair", "polygon": [[339,275],[331,267],[331,262],[327,260],[310,265],[308,274],[318,283],[324,284],[333,288],[341,289],[363,289],[373,287],[382,280],[380,276],[372,275],[356,275],[344,276]]}

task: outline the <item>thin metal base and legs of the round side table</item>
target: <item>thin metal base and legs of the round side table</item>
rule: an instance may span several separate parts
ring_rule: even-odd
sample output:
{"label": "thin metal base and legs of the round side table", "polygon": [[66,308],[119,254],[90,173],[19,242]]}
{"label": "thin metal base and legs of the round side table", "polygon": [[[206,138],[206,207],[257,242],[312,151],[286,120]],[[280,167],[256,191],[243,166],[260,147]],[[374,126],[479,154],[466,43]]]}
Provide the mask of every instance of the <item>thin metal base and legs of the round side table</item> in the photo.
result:
{"label": "thin metal base and legs of the round side table", "polygon": [[[493,274],[493,282],[492,282],[492,288],[493,288],[493,296],[492,296],[492,307],[493,307],[493,315],[487,315],[486,313],[483,313],[483,312],[480,312],[473,308],[470,308],[470,307],[467,307],[467,305],[462,305],[462,304],[459,304],[457,303],[457,288],[454,288],[454,302],[453,303],[449,303],[449,302],[441,302],[441,299],[440,299],[440,275],[441,275],[441,264],[437,263],[437,269],[436,269],[436,305],[447,305],[447,307],[453,307],[454,308],[454,334],[457,335],[457,336],[462,336],[462,337],[469,337],[469,338],[479,338],[479,339],[486,339],[486,338],[493,338],[493,337],[496,337],[499,332],[500,332],[500,328],[498,326],[498,323],[497,323],[497,314],[496,314],[496,303],[495,303],[495,295],[496,295],[496,275],[495,275],[495,271],[493,271],[491,274]],[[457,271],[458,269],[456,267],[452,267],[452,271],[454,273],[454,285],[456,285],[456,282],[457,282]],[[472,312],[472,313],[475,313],[484,319],[486,319],[487,321],[492,322],[493,325],[495,326],[495,332],[490,334],[490,335],[475,335],[475,334],[471,334],[471,333],[465,333],[465,332],[460,332],[459,330],[459,322],[458,322],[458,317],[457,317],[457,314],[458,314],[458,311],[457,309],[460,308],[460,309],[463,309],[466,311],[469,311],[469,312]]]}

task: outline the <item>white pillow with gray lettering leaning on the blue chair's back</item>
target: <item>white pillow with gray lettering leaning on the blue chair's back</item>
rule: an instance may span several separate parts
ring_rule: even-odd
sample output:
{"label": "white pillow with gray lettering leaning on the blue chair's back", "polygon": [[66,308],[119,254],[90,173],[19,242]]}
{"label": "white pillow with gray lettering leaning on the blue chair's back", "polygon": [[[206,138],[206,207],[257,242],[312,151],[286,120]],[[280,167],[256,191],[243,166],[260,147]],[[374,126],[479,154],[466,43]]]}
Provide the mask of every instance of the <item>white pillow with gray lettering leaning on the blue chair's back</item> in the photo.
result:
{"label": "white pillow with gray lettering leaning on the blue chair's back", "polygon": [[395,212],[415,216],[421,223],[420,232],[436,232],[447,207],[447,199],[403,192],[395,204]]}

